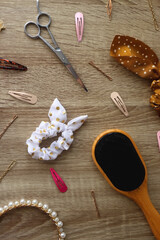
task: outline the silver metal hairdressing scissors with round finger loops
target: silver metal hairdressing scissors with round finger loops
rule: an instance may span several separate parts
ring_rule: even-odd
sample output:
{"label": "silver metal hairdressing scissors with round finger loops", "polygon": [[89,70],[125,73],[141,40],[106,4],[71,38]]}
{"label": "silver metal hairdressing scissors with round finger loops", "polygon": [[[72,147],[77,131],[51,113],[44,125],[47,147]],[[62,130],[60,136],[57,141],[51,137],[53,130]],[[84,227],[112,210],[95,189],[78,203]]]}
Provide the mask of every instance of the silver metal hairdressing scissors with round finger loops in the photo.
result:
{"label": "silver metal hairdressing scissors with round finger loops", "polygon": [[[38,9],[38,16],[37,16],[37,21],[33,22],[33,21],[29,21],[24,25],[24,32],[26,33],[26,35],[32,39],[38,39],[40,38],[55,54],[56,56],[60,59],[60,61],[65,65],[65,67],[68,69],[68,71],[72,74],[72,76],[74,77],[74,79],[84,88],[84,90],[86,92],[88,92],[87,88],[85,87],[84,83],[82,82],[82,80],[79,78],[79,76],[77,75],[76,71],[74,70],[74,68],[72,67],[71,63],[68,61],[68,59],[66,58],[66,56],[63,54],[62,50],[60,49],[60,47],[58,46],[58,43],[56,42],[53,34],[51,33],[49,26],[51,24],[51,17],[50,15],[48,15],[45,12],[41,12],[40,7],[39,7],[39,0],[37,0],[37,9]],[[47,24],[41,24],[40,23],[40,18],[41,17],[45,17],[48,19],[48,23]],[[27,28],[29,25],[34,25],[37,27],[38,29],[38,33],[35,35],[31,35],[28,31]],[[41,28],[46,28],[46,30],[48,31],[52,42],[54,44],[54,47],[47,42],[46,39],[44,39],[41,36]]]}

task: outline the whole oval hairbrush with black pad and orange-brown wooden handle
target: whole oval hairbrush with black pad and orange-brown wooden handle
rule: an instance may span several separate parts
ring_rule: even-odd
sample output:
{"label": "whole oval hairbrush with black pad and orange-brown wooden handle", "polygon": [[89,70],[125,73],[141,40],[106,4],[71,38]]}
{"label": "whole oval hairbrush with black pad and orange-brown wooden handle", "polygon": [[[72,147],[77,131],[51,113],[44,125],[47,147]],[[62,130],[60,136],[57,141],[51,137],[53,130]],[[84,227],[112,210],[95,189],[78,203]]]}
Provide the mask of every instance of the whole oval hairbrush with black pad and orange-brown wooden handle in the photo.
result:
{"label": "whole oval hairbrush with black pad and orange-brown wooden handle", "polygon": [[132,138],[119,129],[107,130],[95,139],[92,158],[108,183],[137,203],[160,240],[160,214],[149,198],[147,168]]}

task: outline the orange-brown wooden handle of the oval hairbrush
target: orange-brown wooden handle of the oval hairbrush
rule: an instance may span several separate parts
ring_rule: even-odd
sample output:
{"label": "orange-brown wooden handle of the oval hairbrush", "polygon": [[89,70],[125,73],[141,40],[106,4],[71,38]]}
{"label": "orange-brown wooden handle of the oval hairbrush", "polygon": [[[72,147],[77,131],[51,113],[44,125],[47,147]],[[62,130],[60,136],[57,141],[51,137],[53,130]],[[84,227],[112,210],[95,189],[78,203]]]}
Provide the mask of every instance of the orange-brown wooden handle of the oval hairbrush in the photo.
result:
{"label": "orange-brown wooden handle of the oval hairbrush", "polygon": [[147,186],[143,190],[141,189],[139,193],[137,191],[134,201],[142,209],[155,238],[160,240],[160,214],[150,200]]}

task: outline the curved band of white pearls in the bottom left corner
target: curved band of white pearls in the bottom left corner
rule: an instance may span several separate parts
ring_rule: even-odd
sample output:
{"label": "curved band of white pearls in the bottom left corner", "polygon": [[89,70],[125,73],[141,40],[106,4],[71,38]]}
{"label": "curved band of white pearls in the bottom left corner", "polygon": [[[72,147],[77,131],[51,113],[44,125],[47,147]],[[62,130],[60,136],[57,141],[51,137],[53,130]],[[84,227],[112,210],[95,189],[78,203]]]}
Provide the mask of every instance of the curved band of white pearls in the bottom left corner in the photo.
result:
{"label": "curved band of white pearls in the bottom left corner", "polygon": [[9,202],[8,205],[5,205],[4,207],[0,207],[0,216],[2,216],[6,212],[14,208],[19,208],[19,207],[35,207],[47,213],[57,227],[58,236],[59,236],[58,240],[65,239],[66,233],[63,232],[63,228],[62,228],[63,222],[59,220],[59,218],[57,217],[57,213],[52,211],[52,209],[50,209],[47,204],[42,204],[41,202],[38,202],[36,199],[32,201],[21,199],[20,201]]}

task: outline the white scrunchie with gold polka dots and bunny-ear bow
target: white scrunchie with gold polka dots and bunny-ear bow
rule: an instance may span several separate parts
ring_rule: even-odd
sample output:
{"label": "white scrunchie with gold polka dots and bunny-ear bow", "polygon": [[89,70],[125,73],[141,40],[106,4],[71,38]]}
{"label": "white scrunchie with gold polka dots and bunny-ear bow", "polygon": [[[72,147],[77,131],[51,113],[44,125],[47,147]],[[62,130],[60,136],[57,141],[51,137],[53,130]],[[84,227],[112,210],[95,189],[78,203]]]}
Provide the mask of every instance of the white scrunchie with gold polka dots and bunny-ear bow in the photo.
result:
{"label": "white scrunchie with gold polka dots and bunny-ear bow", "polygon": [[[57,98],[49,110],[48,117],[50,123],[42,121],[39,127],[36,128],[36,131],[26,141],[28,153],[34,159],[54,160],[63,150],[68,150],[73,142],[73,132],[80,128],[88,118],[87,115],[80,116],[65,124],[67,113]],[[57,133],[62,133],[57,141],[52,142],[48,148],[40,148],[39,144],[42,140],[55,137]]]}

